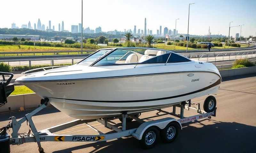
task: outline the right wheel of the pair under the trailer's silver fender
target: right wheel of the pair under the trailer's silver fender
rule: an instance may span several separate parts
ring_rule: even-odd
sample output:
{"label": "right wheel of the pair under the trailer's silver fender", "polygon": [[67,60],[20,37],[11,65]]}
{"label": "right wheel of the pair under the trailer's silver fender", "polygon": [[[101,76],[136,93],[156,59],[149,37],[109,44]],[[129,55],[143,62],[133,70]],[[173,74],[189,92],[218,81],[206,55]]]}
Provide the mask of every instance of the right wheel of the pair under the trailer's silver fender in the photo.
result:
{"label": "right wheel of the pair under the trailer's silver fender", "polygon": [[161,130],[160,135],[164,143],[173,142],[180,131],[180,125],[177,122],[169,123],[163,130]]}

